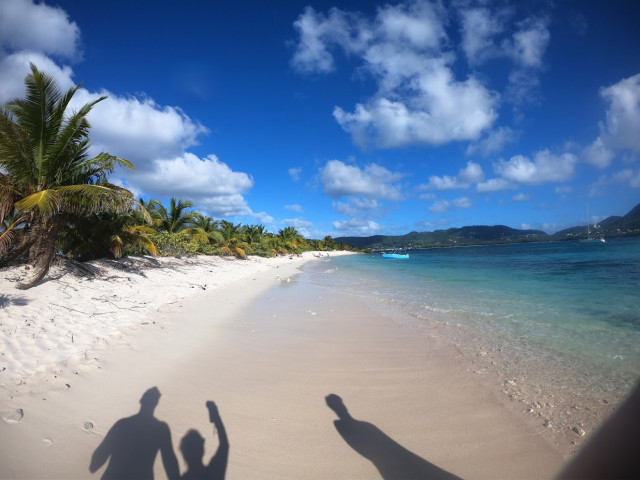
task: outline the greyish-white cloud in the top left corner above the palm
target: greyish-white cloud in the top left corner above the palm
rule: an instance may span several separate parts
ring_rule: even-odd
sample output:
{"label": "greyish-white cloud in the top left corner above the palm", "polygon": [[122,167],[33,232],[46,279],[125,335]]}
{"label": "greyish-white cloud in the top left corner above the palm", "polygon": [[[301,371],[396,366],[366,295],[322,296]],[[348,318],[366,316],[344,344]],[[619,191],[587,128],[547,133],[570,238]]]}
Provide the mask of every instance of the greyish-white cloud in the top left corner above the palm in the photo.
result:
{"label": "greyish-white cloud in the top left corner above the palm", "polygon": [[30,51],[74,59],[80,29],[61,8],[30,0],[0,2],[1,52]]}

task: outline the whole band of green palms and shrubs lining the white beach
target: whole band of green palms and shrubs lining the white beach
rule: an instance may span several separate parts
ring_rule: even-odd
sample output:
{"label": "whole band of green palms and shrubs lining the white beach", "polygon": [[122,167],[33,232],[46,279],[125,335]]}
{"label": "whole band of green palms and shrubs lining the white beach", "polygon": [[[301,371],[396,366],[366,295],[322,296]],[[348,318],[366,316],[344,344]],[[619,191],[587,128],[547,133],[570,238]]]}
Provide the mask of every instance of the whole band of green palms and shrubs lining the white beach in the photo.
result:
{"label": "whole band of green palms and shrubs lining the white beach", "polygon": [[55,259],[85,261],[124,255],[273,256],[346,248],[330,236],[306,240],[292,226],[277,233],[264,225],[234,224],[169,199],[145,202],[108,181],[128,160],[90,156],[89,112],[106,97],[70,105],[80,85],[61,92],[31,65],[26,96],[0,111],[0,268],[34,267],[21,288],[40,282]]}

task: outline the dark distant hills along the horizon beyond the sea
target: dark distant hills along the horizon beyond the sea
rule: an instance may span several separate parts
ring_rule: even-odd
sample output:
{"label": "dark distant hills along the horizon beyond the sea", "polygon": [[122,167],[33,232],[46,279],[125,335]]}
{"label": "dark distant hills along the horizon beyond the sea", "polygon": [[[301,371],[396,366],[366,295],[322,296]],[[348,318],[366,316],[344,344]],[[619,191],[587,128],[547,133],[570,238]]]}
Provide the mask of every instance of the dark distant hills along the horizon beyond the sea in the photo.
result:
{"label": "dark distant hills along the horizon beyond the sea", "polygon": [[[640,203],[625,216],[608,217],[590,226],[591,236],[606,238],[640,236]],[[518,230],[504,225],[476,225],[433,232],[411,232],[406,235],[373,235],[371,237],[338,237],[336,242],[360,249],[432,248],[498,243],[571,241],[587,238],[587,226],[565,228],[549,235],[542,230]]]}

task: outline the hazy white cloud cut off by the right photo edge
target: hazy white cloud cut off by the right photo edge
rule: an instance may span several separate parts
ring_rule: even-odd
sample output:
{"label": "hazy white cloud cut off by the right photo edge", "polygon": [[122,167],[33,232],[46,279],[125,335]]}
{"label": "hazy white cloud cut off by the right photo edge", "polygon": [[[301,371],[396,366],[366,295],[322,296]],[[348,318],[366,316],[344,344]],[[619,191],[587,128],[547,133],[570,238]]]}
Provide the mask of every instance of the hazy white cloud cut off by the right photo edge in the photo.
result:
{"label": "hazy white cloud cut off by the right photo edge", "polygon": [[600,90],[609,102],[600,136],[606,147],[640,152],[640,73]]}

